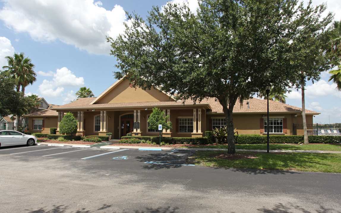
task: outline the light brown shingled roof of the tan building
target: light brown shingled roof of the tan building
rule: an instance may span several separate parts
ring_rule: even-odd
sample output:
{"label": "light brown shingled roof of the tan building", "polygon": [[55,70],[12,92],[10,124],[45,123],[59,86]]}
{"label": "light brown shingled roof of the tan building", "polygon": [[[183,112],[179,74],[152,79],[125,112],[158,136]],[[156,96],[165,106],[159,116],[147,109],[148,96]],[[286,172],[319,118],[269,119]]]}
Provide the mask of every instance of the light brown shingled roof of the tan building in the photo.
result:
{"label": "light brown shingled roof of the tan building", "polygon": [[[162,107],[162,106],[193,106],[193,102],[188,100],[183,105],[182,101],[163,101],[163,102],[134,102],[134,103],[107,103],[107,104],[90,104],[96,97],[85,97],[78,99],[72,103],[56,106],[51,108],[54,110],[60,109],[104,109],[104,108],[136,108],[136,107]],[[249,105],[248,105],[249,101]],[[214,98],[204,99],[200,103],[196,103],[196,105],[207,106],[208,109],[212,109],[212,113],[223,113],[223,107],[216,101]],[[248,107],[249,106],[249,107]],[[276,101],[269,100],[269,111],[281,112],[281,113],[299,113],[302,112],[302,109],[299,107],[291,106],[288,104],[279,103]],[[243,105],[240,106],[240,103],[237,102],[234,106],[233,113],[265,113],[267,112],[267,100],[261,100],[257,98],[252,98],[249,100],[244,100]],[[56,112],[57,113],[57,112]],[[314,112],[311,110],[306,110],[307,114],[320,114],[318,112]],[[58,115],[58,113],[57,113]]]}

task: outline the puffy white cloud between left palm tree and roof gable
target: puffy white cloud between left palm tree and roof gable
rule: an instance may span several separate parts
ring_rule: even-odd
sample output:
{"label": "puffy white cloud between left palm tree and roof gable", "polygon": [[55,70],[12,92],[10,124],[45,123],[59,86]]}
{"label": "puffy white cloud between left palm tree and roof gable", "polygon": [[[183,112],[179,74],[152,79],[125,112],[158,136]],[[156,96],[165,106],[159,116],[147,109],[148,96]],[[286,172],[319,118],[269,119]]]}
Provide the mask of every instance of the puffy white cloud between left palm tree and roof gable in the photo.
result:
{"label": "puffy white cloud between left palm tree and roof gable", "polygon": [[61,69],[57,69],[56,73],[53,73],[52,81],[44,79],[43,83],[39,85],[38,90],[42,97],[59,98],[66,96],[65,99],[68,99],[73,91],[71,90],[64,94],[64,87],[81,86],[84,86],[84,78],[76,77],[68,68],[63,67]]}

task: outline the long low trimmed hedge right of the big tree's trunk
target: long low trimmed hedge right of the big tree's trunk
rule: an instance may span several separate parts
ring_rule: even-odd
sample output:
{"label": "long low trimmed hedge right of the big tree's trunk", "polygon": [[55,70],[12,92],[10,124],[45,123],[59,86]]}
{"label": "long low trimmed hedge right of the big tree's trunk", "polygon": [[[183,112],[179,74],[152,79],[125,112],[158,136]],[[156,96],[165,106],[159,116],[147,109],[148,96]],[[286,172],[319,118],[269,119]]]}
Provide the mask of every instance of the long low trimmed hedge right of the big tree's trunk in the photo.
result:
{"label": "long low trimmed hedge right of the big tree's trunk", "polygon": [[[309,143],[341,143],[341,136],[308,136]],[[235,135],[236,144],[264,144],[267,136],[261,135]],[[303,143],[301,135],[272,135],[269,143]]]}

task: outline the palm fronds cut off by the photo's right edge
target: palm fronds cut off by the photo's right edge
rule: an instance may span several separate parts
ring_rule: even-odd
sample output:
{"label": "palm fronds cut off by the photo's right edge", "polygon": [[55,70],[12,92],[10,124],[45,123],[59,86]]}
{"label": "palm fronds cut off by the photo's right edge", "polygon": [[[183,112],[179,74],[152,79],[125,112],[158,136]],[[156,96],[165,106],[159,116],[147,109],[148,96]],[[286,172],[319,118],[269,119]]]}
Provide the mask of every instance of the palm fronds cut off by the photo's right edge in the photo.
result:
{"label": "palm fronds cut off by the photo's right edge", "polygon": [[[335,36],[331,40],[331,50],[334,52],[338,52],[341,50],[341,21],[334,21],[333,23],[334,30],[335,30]],[[340,64],[341,64],[341,54],[339,52],[338,57],[340,58]],[[336,84],[337,90],[341,91],[341,66],[338,66],[339,69],[337,70],[330,70],[329,73],[331,76],[329,77],[328,81],[333,81],[333,83]]]}

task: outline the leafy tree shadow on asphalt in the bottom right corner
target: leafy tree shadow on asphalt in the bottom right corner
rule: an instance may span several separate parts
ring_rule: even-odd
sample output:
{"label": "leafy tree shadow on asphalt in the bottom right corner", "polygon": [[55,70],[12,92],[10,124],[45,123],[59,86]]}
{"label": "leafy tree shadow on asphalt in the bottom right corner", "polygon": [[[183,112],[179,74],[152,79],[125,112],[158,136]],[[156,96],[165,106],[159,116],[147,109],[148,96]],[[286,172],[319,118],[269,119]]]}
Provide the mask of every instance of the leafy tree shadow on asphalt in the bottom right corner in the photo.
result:
{"label": "leafy tree shadow on asphalt in the bottom right corner", "polygon": [[320,205],[320,208],[315,209],[313,212],[307,210],[303,207],[294,205],[293,203],[287,203],[286,205],[283,203],[277,203],[272,208],[263,207],[261,209],[257,209],[260,212],[264,213],[292,213],[292,212],[302,212],[302,213],[340,213],[340,210],[335,210],[331,208],[325,208]]}

